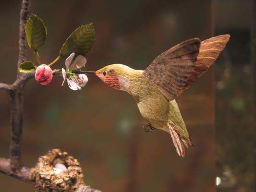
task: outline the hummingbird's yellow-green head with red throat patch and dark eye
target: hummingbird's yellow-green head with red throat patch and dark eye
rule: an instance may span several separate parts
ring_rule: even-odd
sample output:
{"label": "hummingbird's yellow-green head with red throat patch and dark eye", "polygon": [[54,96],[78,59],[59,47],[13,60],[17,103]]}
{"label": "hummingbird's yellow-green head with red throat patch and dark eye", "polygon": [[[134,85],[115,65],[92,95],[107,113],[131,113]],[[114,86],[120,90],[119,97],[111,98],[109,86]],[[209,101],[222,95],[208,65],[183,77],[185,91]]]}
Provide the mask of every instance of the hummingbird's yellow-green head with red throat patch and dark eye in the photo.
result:
{"label": "hummingbird's yellow-green head with red throat patch and dark eye", "polygon": [[130,85],[129,77],[133,71],[136,70],[126,65],[112,64],[99,69],[96,75],[111,88],[127,91]]}

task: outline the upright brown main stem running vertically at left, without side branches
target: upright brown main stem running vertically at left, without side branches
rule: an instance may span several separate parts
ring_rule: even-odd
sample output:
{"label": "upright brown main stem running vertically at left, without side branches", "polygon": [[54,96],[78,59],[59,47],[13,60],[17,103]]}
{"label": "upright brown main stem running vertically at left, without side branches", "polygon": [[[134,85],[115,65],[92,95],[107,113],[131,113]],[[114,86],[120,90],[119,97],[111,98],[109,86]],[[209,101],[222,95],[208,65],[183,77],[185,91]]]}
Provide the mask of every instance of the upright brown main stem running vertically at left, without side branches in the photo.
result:
{"label": "upright brown main stem running vertically at left, without side branches", "polygon": [[[30,0],[22,0],[20,12],[19,30],[19,63],[27,58],[27,44],[25,36],[25,23],[30,10]],[[11,126],[12,136],[10,144],[10,166],[11,171],[16,173],[22,167],[21,145],[23,124],[23,89],[28,80],[28,75],[17,70],[17,79],[14,82],[15,89],[10,91],[11,97]],[[19,83],[19,84],[17,84]]]}

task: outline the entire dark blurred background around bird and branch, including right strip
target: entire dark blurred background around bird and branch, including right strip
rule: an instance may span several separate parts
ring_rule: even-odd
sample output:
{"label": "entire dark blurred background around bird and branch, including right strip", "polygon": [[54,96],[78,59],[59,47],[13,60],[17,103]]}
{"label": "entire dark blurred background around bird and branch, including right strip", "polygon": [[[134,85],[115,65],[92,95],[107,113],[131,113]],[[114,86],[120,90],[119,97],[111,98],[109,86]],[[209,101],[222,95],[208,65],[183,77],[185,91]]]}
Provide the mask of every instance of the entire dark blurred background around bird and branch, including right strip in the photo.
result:
{"label": "entire dark blurred background around bird and branch, including right strip", "polygon": [[[49,63],[66,37],[93,22],[96,43],[87,70],[122,63],[145,69],[160,53],[193,37],[230,34],[213,68],[177,99],[195,150],[178,157],[166,132],[142,132],[146,123],[131,96],[97,77],[81,91],[62,78],[24,92],[23,160],[32,167],[52,148],[81,163],[85,183],[103,192],[253,192],[250,0],[32,0],[48,27],[38,51]],[[1,0],[0,82],[11,84],[18,59],[20,0]],[[35,60],[29,50],[29,60]],[[61,68],[64,60],[56,65]],[[216,129],[215,129],[216,125]],[[216,138],[215,138],[216,133]],[[0,156],[9,156],[10,101],[0,93]],[[0,191],[33,192],[0,175]]]}

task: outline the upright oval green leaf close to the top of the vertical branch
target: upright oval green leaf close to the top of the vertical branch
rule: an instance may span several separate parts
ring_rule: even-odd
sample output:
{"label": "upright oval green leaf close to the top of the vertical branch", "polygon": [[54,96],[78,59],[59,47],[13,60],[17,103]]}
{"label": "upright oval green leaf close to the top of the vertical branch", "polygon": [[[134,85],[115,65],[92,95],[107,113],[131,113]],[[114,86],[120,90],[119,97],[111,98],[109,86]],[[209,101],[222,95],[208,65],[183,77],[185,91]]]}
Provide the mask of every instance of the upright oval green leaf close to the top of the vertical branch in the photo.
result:
{"label": "upright oval green leaf close to the top of the vertical branch", "polygon": [[31,14],[26,22],[25,33],[29,48],[34,51],[45,44],[47,28],[42,19],[37,15]]}

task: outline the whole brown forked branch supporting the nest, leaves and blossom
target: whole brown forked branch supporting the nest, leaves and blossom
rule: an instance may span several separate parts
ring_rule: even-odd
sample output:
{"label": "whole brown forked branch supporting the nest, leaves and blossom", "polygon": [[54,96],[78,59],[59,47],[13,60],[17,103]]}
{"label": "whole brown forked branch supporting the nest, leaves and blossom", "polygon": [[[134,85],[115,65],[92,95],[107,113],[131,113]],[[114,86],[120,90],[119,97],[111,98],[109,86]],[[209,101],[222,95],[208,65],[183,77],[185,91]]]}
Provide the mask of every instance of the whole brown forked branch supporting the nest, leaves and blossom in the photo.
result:
{"label": "whole brown forked branch supporting the nest, leaves and blossom", "polygon": [[[30,11],[30,0],[22,0],[20,12],[19,28],[19,59],[18,66],[27,58],[27,43],[25,36],[25,23]],[[20,73],[17,70],[17,78],[13,84],[0,83],[0,91],[8,92],[11,98],[11,143],[10,159],[0,158],[0,173],[4,173],[18,180],[33,183],[35,168],[25,168],[22,166],[21,146],[22,146],[22,125],[23,125],[23,92],[27,81],[35,75],[35,72]],[[63,181],[64,182],[64,181]],[[49,186],[50,188],[50,186]],[[77,192],[100,192],[86,186],[84,183],[78,186]]]}

